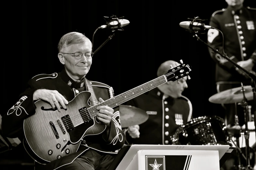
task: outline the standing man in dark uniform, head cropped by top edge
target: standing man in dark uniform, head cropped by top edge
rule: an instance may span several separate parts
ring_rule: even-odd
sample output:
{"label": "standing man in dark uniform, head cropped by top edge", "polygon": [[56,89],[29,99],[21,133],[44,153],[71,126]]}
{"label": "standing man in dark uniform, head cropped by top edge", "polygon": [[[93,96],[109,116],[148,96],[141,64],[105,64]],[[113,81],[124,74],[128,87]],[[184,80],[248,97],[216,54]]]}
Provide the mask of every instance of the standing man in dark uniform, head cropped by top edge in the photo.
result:
{"label": "standing man in dark uniform, head cropped by top edge", "polygon": [[[244,7],[244,0],[226,0],[228,7],[215,11],[210,19],[210,26],[219,29],[224,36],[224,52],[227,56],[249,72],[255,73],[256,62],[256,8]],[[223,38],[216,29],[209,29],[208,44],[222,53]],[[217,92],[244,85],[250,85],[250,79],[244,76],[231,62],[209,48],[212,59],[216,62]],[[238,115],[242,126],[244,112],[236,104],[222,105],[226,108],[225,119],[228,126],[232,126],[235,114]],[[237,112],[237,113],[236,113]]]}

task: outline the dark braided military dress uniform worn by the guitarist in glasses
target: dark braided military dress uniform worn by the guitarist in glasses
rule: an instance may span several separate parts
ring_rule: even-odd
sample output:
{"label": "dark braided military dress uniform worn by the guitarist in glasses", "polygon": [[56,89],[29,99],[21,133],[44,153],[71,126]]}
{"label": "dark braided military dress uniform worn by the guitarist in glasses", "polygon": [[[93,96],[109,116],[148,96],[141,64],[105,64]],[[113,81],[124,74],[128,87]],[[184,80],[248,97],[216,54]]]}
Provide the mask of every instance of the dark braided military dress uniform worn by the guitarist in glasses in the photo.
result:
{"label": "dark braided military dress uniform worn by the guitarist in glasses", "polygon": [[[48,90],[57,90],[62,94],[65,99],[72,101],[72,99],[80,92],[89,91],[94,92],[94,100],[89,99],[89,104],[95,105],[98,103],[97,99],[102,98],[107,100],[113,97],[113,88],[100,82],[89,81],[86,78],[79,82],[75,82],[70,78],[65,70],[62,70],[60,73],[53,74],[41,74],[31,78],[28,81],[28,87],[25,92],[20,94],[20,100],[12,106],[8,112],[2,117],[2,132],[7,137],[24,137],[23,131],[23,120],[29,116],[35,114],[35,105],[33,101],[33,93],[37,89],[48,89]],[[92,94],[93,95],[93,94]],[[93,104],[94,102],[94,104]],[[114,116],[110,122],[110,131],[108,139],[103,138],[103,133],[98,135],[90,135],[91,139],[84,140],[81,142],[81,145],[78,148],[78,151],[68,156],[64,156],[60,159],[47,163],[44,167],[47,169],[58,169],[64,165],[70,165],[74,160],[86,154],[88,150],[95,151],[97,154],[102,155],[115,155],[118,150],[124,144],[123,133],[121,131],[120,124],[120,115],[118,107],[114,109]],[[24,140],[24,146],[26,145],[26,140]],[[26,150],[29,149],[25,147]],[[42,160],[38,157],[34,157],[33,152],[28,154],[32,155],[32,158],[38,162]],[[79,157],[80,158],[80,157]],[[110,160],[106,160],[110,161]],[[45,163],[45,162],[42,162]],[[111,163],[111,162],[110,162]]]}

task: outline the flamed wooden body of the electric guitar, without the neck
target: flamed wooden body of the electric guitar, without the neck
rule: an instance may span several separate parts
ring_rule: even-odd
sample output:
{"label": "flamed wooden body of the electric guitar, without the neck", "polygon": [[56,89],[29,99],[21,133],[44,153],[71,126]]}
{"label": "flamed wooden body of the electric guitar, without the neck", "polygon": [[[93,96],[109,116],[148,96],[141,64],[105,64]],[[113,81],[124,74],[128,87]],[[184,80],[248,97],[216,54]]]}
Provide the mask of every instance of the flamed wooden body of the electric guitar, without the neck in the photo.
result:
{"label": "flamed wooden body of the electric guitar, without the neck", "polygon": [[35,103],[36,113],[24,120],[24,133],[29,147],[38,157],[51,162],[74,153],[84,136],[105,130],[105,124],[97,122],[96,117],[79,111],[91,107],[88,104],[90,96],[90,92],[79,93],[61,112],[42,100]]}

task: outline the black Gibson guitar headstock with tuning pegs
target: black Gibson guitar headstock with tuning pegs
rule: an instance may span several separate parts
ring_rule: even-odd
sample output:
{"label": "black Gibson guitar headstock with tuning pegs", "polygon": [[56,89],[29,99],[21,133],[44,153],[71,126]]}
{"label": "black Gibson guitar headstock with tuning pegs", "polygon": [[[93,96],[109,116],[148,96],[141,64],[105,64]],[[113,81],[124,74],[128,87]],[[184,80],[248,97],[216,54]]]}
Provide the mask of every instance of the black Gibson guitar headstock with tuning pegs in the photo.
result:
{"label": "black Gibson guitar headstock with tuning pegs", "polygon": [[[171,69],[168,71],[167,74],[165,74],[167,81],[175,81],[186,76],[188,79],[190,79],[189,73],[191,71],[191,66],[189,66],[188,64],[184,64],[182,60],[180,60],[180,62],[181,64],[178,65],[178,63],[176,63],[176,65],[174,65],[176,67],[174,68],[172,65],[170,65]],[[177,82],[179,83],[179,81]]]}

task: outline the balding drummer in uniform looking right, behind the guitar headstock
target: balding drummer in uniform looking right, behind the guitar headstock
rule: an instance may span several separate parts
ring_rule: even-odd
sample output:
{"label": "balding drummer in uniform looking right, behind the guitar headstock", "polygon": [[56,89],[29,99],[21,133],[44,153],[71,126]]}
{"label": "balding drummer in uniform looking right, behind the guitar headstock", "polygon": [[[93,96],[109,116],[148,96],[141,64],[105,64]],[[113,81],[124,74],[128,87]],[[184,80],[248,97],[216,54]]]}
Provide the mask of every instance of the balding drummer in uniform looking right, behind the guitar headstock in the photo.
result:
{"label": "balding drummer in uniform looking right, behind the guitar headstock", "polygon": [[[170,65],[180,65],[175,63],[172,60],[162,63],[157,70],[157,76],[166,74]],[[188,87],[186,80],[187,77],[179,79],[179,83],[168,81],[126,102],[126,105],[141,108],[149,115],[146,122],[124,130],[129,144],[171,144],[170,136],[178,127],[192,119],[192,104],[182,95]]]}

